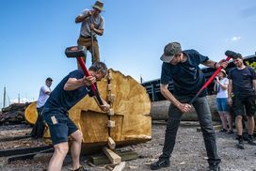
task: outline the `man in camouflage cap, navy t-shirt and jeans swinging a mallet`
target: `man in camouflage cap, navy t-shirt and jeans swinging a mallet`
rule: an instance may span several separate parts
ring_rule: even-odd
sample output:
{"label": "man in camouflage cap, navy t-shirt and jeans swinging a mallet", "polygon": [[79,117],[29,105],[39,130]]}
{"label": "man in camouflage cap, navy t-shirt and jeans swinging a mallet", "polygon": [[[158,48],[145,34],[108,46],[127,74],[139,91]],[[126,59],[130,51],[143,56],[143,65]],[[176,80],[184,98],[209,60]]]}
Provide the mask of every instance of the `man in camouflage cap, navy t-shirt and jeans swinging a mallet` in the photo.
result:
{"label": "man in camouflage cap, navy t-shirt and jeans swinging a mallet", "polygon": [[[161,56],[163,61],[161,73],[161,93],[171,102],[168,110],[168,124],[165,135],[165,145],[159,160],[151,164],[152,170],[169,166],[169,158],[175,145],[176,133],[180,125],[183,113],[191,110],[191,101],[204,85],[205,78],[200,70],[202,64],[214,69],[227,67],[228,62],[214,62],[207,56],[195,50],[182,51],[179,42],[171,42],[166,45],[164,54]],[[173,94],[168,90],[168,84],[172,81],[174,88]],[[218,171],[220,169],[220,158],[216,151],[216,133],[212,125],[211,111],[206,99],[204,89],[199,98],[192,104],[196,109],[200,120],[200,127],[204,139],[205,148],[208,156],[209,170]]]}

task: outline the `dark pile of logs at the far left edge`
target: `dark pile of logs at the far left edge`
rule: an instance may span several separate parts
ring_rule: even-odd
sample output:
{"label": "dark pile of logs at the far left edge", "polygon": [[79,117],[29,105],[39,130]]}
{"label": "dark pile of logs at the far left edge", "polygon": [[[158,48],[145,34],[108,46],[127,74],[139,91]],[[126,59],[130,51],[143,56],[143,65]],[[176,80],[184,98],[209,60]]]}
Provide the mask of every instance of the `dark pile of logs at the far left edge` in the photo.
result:
{"label": "dark pile of logs at the far left edge", "polygon": [[24,110],[30,103],[13,103],[3,108],[0,113],[0,124],[17,124],[24,122]]}

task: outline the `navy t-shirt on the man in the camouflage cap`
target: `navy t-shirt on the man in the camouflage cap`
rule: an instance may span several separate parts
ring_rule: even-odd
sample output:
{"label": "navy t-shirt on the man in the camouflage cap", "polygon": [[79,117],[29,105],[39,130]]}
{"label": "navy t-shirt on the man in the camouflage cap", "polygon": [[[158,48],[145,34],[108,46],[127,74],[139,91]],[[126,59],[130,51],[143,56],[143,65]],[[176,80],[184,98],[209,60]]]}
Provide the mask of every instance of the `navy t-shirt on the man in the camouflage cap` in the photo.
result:
{"label": "navy t-shirt on the man in the camouflage cap", "polygon": [[[183,51],[187,59],[177,65],[163,62],[161,84],[168,85],[173,81],[173,94],[176,96],[194,96],[205,83],[205,77],[199,65],[209,58],[195,50]],[[206,96],[206,88],[200,93],[200,97]]]}

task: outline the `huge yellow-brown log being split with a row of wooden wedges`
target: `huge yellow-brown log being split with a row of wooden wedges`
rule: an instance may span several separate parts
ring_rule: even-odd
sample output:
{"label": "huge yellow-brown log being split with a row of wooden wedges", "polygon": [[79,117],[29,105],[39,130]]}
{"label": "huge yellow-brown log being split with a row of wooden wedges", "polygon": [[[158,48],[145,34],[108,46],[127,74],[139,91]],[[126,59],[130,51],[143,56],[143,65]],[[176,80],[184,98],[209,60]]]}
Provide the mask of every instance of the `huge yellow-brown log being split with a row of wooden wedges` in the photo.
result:
{"label": "huge yellow-brown log being split with a row of wooden wedges", "polygon": [[[105,101],[109,100],[110,93],[114,116],[108,116],[101,111],[93,98],[88,96],[69,111],[70,117],[83,132],[82,148],[85,151],[103,148],[107,145],[108,137],[111,137],[117,146],[142,143],[152,138],[151,101],[146,89],[131,76],[124,76],[120,71],[108,70],[108,72],[109,80],[103,79],[98,87]],[[111,89],[108,89],[109,84]],[[25,114],[25,117],[36,115],[35,106],[29,106],[26,113],[29,114]],[[108,128],[108,120],[115,121],[115,127]],[[44,136],[49,137],[49,132]]]}

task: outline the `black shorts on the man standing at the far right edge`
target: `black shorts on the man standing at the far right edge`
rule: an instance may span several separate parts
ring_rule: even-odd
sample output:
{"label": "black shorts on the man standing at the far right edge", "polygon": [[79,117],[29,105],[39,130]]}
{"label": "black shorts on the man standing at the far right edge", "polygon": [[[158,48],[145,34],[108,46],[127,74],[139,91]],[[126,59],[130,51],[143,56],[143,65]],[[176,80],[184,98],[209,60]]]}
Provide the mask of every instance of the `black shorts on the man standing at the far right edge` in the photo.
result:
{"label": "black shorts on the man standing at the far right edge", "polygon": [[255,96],[233,97],[232,110],[235,117],[244,115],[253,117],[255,113]]}

